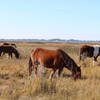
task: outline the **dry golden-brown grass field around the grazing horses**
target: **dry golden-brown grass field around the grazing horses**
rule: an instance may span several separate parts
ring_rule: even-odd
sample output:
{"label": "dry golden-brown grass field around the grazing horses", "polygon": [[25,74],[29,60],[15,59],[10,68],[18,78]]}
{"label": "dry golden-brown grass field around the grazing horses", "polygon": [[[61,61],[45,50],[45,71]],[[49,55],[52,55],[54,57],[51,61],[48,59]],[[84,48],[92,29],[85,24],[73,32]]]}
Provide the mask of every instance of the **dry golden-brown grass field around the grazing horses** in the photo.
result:
{"label": "dry golden-brown grass field around the grazing horses", "polygon": [[[86,66],[79,62],[81,44],[16,42],[16,45],[20,59],[0,57],[0,100],[100,100],[100,64],[93,66],[92,59],[85,60]],[[34,73],[29,77],[29,56],[36,47],[63,49],[81,64],[82,79],[74,81],[67,69],[53,80],[48,79],[50,70],[44,78],[36,79]]]}

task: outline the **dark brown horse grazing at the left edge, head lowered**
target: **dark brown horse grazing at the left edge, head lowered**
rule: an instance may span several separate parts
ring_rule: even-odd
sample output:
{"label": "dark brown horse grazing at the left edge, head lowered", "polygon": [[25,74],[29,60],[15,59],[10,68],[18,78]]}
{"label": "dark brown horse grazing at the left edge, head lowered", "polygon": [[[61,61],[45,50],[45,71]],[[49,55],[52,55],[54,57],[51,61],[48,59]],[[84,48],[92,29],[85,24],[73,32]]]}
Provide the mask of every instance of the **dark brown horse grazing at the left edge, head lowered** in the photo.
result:
{"label": "dark brown horse grazing at the left edge, head lowered", "polygon": [[15,55],[15,57],[18,59],[20,54],[19,52],[12,46],[0,46],[0,56],[1,54],[5,54],[7,53],[11,58],[12,58],[12,54]]}

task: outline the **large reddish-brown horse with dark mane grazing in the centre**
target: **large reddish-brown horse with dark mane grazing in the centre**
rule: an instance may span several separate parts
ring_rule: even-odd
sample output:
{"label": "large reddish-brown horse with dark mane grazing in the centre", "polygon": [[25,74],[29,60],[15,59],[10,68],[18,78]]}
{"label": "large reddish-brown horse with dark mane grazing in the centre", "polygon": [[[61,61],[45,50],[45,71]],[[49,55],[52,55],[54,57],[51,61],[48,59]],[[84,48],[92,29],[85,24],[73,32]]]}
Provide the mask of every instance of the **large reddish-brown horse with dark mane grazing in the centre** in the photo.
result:
{"label": "large reddish-brown horse with dark mane grazing in the centre", "polygon": [[58,70],[58,76],[60,76],[64,67],[72,72],[74,79],[81,77],[80,67],[61,49],[48,50],[36,48],[32,50],[29,59],[29,75],[31,75],[33,68],[35,75],[37,75],[38,65],[40,65],[41,69],[44,69],[44,67],[52,68],[53,72],[50,74],[50,79],[54,76],[56,70]]}

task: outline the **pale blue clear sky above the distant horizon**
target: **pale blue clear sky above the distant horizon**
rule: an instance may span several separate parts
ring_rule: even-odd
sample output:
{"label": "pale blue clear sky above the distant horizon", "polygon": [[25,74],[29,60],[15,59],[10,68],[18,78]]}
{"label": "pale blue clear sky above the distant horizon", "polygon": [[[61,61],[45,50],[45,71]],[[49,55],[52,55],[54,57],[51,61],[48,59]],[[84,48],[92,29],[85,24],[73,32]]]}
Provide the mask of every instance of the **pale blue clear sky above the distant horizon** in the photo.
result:
{"label": "pale blue clear sky above the distant horizon", "polygon": [[100,40],[100,0],[0,0],[0,39]]}

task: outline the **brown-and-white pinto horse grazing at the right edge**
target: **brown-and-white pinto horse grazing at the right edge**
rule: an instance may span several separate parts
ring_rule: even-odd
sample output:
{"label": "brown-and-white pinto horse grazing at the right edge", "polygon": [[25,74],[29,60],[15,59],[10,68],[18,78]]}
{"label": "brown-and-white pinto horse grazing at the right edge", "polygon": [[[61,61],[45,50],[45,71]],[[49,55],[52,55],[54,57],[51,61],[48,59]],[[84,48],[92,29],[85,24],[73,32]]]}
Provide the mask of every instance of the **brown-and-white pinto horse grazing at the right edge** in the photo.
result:
{"label": "brown-and-white pinto horse grazing at the right edge", "polygon": [[80,48],[80,61],[84,61],[87,57],[93,57],[94,61],[97,61],[98,56],[100,55],[100,46],[99,45],[83,45]]}

